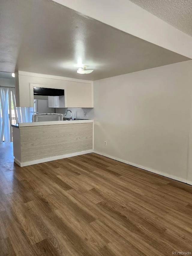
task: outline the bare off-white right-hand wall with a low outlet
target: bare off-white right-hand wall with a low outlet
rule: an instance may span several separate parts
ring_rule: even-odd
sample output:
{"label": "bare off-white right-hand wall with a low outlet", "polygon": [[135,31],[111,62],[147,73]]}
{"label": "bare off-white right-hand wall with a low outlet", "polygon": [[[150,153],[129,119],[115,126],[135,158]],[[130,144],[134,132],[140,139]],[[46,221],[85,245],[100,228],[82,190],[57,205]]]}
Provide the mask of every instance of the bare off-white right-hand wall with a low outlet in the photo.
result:
{"label": "bare off-white right-hand wall with a low outlet", "polygon": [[94,81],[94,150],[186,181],[191,71],[187,61]]}

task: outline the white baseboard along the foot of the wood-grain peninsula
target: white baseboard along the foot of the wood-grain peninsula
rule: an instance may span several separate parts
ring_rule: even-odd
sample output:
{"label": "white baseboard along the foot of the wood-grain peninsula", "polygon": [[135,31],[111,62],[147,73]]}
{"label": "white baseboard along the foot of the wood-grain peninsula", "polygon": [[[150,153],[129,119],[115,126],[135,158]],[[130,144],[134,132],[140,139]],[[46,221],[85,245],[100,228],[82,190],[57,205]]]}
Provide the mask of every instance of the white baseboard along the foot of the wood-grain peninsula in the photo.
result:
{"label": "white baseboard along the foot of the wood-grain peninsula", "polygon": [[20,162],[17,159],[14,159],[14,162],[16,164],[18,164],[20,167],[24,167],[24,166],[28,166],[28,165],[32,165],[32,164],[40,164],[40,163],[45,163],[45,162],[54,161],[54,160],[58,160],[58,159],[68,158],[68,157],[72,157],[72,156],[76,156],[76,155],[84,155],[84,154],[88,154],[88,153],[92,153],[92,152],[93,152],[93,149],[90,149],[90,150],[75,152],[75,153],[66,154],[66,155],[57,155],[57,156],[52,156],[52,157],[48,157],[48,158],[32,160],[29,162]]}

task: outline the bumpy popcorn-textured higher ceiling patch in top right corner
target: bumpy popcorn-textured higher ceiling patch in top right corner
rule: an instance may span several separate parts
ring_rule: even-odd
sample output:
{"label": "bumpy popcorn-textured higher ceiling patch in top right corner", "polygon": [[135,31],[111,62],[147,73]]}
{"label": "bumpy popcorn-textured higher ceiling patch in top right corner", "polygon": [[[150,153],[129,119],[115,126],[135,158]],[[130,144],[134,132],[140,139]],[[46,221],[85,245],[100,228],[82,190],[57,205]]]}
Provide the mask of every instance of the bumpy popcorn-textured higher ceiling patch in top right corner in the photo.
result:
{"label": "bumpy popcorn-textured higher ceiling patch in top right corner", "polygon": [[192,36],[192,0],[130,0]]}

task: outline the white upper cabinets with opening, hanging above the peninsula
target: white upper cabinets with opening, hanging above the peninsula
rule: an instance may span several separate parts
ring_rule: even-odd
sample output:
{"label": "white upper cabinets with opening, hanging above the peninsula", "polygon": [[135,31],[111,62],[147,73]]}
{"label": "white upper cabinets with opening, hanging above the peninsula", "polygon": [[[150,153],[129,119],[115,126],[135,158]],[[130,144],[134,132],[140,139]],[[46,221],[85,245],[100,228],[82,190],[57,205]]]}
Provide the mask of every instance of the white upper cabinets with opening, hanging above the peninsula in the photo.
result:
{"label": "white upper cabinets with opening, hanging above the peninsula", "polygon": [[17,107],[34,106],[33,87],[64,90],[64,96],[49,98],[49,107],[93,107],[93,82],[24,71],[15,72]]}

